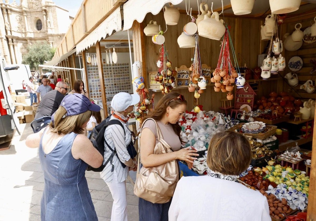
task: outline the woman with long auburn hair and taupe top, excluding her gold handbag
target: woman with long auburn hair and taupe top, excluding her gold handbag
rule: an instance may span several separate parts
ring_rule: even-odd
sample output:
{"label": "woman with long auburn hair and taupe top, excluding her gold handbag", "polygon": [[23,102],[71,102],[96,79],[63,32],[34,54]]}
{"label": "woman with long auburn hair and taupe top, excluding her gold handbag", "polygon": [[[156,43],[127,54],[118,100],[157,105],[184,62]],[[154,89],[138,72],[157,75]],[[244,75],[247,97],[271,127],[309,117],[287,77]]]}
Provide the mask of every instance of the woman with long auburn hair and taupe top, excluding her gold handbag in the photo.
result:
{"label": "woman with long auburn hair and taupe top, excluding her gold handbag", "polygon": [[[186,110],[186,100],[182,94],[171,92],[161,98],[156,108],[145,119],[153,118],[162,133],[163,139],[172,147],[173,152],[154,154],[155,144],[158,142],[156,124],[153,120],[146,120],[142,126],[140,138],[141,162],[145,167],[158,166],[169,161],[179,159],[187,162],[189,167],[198,156],[195,150],[181,147],[180,132],[178,124]],[[144,119],[144,120],[145,120]],[[190,168],[191,169],[191,168]],[[170,201],[167,203],[152,203],[139,198],[139,220],[163,221],[168,220]]]}

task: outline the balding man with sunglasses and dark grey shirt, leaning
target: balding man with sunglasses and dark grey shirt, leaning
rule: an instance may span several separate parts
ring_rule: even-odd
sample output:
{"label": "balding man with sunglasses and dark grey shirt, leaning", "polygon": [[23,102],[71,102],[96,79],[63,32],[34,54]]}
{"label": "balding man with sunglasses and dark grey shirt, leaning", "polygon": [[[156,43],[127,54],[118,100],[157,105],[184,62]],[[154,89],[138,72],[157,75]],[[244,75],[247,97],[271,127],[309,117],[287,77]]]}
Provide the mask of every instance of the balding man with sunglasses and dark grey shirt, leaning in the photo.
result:
{"label": "balding man with sunglasses and dark grey shirt, leaning", "polygon": [[34,119],[38,119],[43,116],[52,116],[52,114],[58,109],[67,91],[68,85],[64,81],[59,81],[56,84],[55,89],[46,93],[42,98]]}

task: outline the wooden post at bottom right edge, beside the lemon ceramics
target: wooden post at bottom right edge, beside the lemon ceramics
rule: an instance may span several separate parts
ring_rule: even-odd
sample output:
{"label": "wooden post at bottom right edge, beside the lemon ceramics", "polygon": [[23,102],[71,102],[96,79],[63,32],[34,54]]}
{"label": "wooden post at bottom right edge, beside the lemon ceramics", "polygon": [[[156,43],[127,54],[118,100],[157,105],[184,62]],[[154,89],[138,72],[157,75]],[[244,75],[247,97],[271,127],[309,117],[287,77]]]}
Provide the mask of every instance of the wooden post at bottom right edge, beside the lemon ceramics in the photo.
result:
{"label": "wooden post at bottom right edge, beside the lemon ceramics", "polygon": [[[315,111],[316,112],[316,111]],[[309,191],[308,191],[308,207],[307,207],[307,220],[316,220],[316,121],[314,121],[313,130],[313,145],[312,145],[312,164],[309,176]]]}

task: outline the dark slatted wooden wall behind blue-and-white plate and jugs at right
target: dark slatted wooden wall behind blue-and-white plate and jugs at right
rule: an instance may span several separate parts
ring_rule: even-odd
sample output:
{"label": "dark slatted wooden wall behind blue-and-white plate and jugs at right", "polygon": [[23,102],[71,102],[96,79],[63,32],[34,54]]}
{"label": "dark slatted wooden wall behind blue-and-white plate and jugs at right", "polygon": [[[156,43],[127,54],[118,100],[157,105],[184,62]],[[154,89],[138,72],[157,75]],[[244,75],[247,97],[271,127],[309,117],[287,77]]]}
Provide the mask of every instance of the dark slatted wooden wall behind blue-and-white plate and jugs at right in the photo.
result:
{"label": "dark slatted wooden wall behind blue-and-white plate and jugs at right", "polygon": [[[302,28],[301,31],[304,31],[307,27],[310,27],[311,24],[314,23],[313,21],[314,19],[314,15],[311,16],[310,18],[301,20],[300,17],[297,18],[296,21],[292,21],[289,23],[285,23],[282,25],[281,30],[282,30],[282,37],[284,36],[285,33],[290,33],[292,34],[293,31],[295,31],[295,24],[296,23],[301,23],[302,24]],[[311,22],[313,21],[313,22]],[[283,41],[285,39],[283,38]],[[316,40],[316,39],[315,39]],[[307,44],[305,42],[303,42],[303,45],[301,46],[301,48],[297,51],[283,51],[282,54],[284,53],[285,56],[285,60],[286,60],[286,69],[283,71],[283,77],[284,75],[286,75],[289,72],[292,72],[292,74],[296,74],[298,76],[299,79],[299,85],[296,87],[291,87],[288,85],[287,80],[284,79],[283,84],[280,85],[280,87],[283,87],[283,90],[286,92],[289,92],[291,95],[293,95],[294,97],[298,97],[304,100],[308,100],[310,98],[315,99],[315,93],[306,93],[304,90],[300,89],[300,86],[302,84],[304,84],[307,80],[312,80],[313,81],[313,85],[315,85],[315,80],[316,80],[316,72],[314,72],[313,74],[310,74],[311,69],[313,68],[313,65],[309,62],[310,59],[316,59],[316,42],[313,44]],[[289,60],[293,57],[293,56],[299,56],[302,58],[303,60],[303,67],[301,70],[293,72],[289,69]]]}

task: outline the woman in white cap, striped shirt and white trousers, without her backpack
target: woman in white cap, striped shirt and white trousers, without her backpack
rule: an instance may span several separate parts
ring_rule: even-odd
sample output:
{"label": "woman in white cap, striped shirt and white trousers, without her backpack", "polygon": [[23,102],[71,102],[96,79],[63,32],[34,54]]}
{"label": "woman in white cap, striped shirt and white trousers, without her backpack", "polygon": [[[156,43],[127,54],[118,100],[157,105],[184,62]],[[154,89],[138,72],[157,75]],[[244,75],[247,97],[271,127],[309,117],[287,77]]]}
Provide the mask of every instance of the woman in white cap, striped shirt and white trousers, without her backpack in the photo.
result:
{"label": "woman in white cap, striped shirt and white trousers, without her backpack", "polygon": [[117,152],[113,156],[112,163],[106,164],[100,172],[101,178],[108,185],[114,200],[111,214],[112,221],[127,221],[125,180],[129,170],[136,171],[137,169],[136,159],[131,158],[126,148],[132,140],[131,131],[127,124],[127,115],[133,111],[134,105],[138,104],[139,100],[138,94],[120,92],[114,95],[111,102],[113,111],[110,121],[116,119],[122,125],[109,125],[104,132],[106,141],[104,142],[104,162],[110,158],[112,150],[115,149]]}

